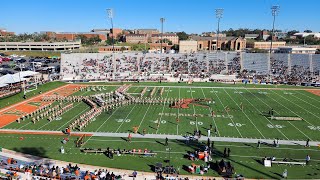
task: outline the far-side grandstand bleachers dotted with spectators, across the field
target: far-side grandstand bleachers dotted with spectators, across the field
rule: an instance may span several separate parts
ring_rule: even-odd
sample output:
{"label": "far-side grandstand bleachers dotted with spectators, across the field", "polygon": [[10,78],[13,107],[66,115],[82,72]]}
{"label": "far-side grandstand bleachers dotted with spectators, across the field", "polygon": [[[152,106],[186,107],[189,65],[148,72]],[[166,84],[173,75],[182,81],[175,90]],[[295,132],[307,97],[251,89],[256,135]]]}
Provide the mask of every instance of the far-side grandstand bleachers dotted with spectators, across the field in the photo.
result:
{"label": "far-side grandstand bleachers dotted with spectators, across the field", "polygon": [[62,54],[63,80],[210,78],[247,70],[256,75],[319,74],[320,54],[268,53],[72,53]]}

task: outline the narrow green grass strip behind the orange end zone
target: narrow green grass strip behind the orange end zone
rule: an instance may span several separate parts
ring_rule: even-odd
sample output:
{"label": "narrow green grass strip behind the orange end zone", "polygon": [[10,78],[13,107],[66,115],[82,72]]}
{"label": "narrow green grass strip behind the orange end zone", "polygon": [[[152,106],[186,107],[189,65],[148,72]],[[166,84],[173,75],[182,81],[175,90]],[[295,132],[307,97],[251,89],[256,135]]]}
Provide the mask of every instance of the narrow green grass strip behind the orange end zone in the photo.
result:
{"label": "narrow green grass strip behind the orange end zone", "polygon": [[[30,91],[30,92],[26,93],[27,99],[38,95],[40,91],[42,91],[42,93],[44,93],[44,92],[53,90],[55,88],[58,88],[60,86],[63,86],[65,84],[66,83],[64,83],[64,82],[55,81],[55,82],[49,82],[49,83],[40,85],[40,86],[38,86],[37,90]],[[16,103],[23,101],[23,100],[24,100],[23,99],[23,92],[20,92],[18,94],[13,95],[13,96],[1,99],[0,100],[0,109],[4,108],[6,106],[16,104]]]}

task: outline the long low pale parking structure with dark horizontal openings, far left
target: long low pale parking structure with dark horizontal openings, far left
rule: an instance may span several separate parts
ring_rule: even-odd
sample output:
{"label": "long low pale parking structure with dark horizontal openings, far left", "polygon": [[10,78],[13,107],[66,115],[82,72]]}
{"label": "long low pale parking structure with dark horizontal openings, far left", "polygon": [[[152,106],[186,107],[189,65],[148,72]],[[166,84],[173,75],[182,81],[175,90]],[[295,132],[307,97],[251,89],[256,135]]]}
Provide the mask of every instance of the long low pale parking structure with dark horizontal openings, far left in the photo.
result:
{"label": "long low pale parking structure with dark horizontal openings, far left", "polygon": [[81,42],[0,42],[5,51],[66,51],[79,49]]}

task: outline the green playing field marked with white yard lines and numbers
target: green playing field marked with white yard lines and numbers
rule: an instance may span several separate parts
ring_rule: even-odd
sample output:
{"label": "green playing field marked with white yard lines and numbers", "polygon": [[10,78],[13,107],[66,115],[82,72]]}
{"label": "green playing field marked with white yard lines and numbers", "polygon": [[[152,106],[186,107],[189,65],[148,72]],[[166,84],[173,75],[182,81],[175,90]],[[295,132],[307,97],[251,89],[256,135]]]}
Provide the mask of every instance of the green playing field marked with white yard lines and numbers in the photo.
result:
{"label": "green playing field marked with white yard lines and numbers", "polygon": [[[118,86],[106,86],[103,92],[114,91]],[[150,96],[154,87],[148,87],[145,97]],[[139,95],[142,87],[132,86],[128,93]],[[161,89],[161,87],[157,87]],[[158,92],[158,90],[157,90]],[[92,95],[94,91],[79,91],[75,95]],[[155,93],[154,97],[160,97]],[[211,102],[203,102],[197,106],[190,104],[187,109],[169,108],[163,105],[132,104],[105,112],[98,116],[87,128],[86,132],[127,133],[134,126],[142,133],[148,134],[191,134],[200,130],[207,134],[210,124],[217,129],[217,136],[239,138],[262,138],[284,140],[320,140],[320,97],[304,90],[252,89],[238,87],[164,87],[163,98],[206,98]],[[230,111],[225,111],[228,107]],[[243,107],[243,110],[241,109]],[[301,121],[274,120],[268,117],[273,109],[277,117],[300,117]],[[59,120],[48,122],[41,120],[31,124],[26,120],[20,124],[12,123],[7,129],[62,130],[89,110],[84,103],[75,103],[74,108],[65,113]],[[215,117],[209,116],[211,111]],[[179,114],[180,122],[176,122]],[[197,114],[198,117],[194,117]],[[157,122],[160,127],[157,128]]]}

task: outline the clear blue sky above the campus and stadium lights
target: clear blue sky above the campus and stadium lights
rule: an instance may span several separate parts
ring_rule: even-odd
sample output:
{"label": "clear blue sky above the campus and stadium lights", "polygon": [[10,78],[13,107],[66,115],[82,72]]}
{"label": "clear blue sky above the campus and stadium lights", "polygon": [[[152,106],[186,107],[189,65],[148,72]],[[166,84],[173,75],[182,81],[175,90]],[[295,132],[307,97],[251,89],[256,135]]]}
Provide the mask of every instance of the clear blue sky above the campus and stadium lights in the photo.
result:
{"label": "clear blue sky above the campus and stadium lights", "polygon": [[216,31],[214,9],[224,8],[221,29],[271,29],[271,6],[280,5],[276,29],[320,31],[320,0],[4,0],[0,27],[17,33],[40,31],[86,32],[110,28],[107,8],[114,10],[114,26],[158,28],[200,33]]}

